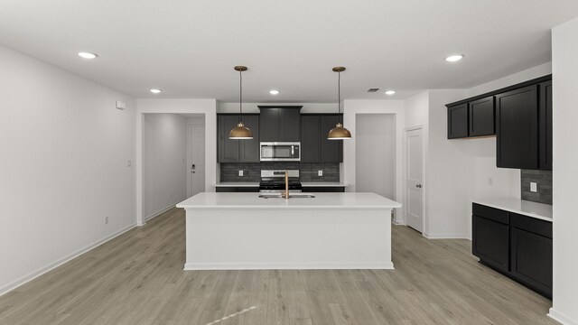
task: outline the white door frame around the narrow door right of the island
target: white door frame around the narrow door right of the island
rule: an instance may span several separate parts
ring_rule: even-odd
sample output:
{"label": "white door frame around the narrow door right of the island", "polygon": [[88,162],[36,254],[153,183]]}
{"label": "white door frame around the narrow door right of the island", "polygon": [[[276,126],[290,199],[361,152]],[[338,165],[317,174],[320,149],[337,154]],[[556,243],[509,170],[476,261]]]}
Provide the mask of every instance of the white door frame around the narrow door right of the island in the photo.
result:
{"label": "white door frame around the narrow door right of the island", "polygon": [[427,157],[425,155],[425,143],[424,143],[424,125],[414,125],[409,126],[404,129],[404,218],[403,218],[403,225],[407,226],[407,207],[408,207],[408,198],[407,198],[407,162],[409,161],[409,151],[407,150],[407,135],[411,131],[415,130],[422,130],[422,184],[424,185],[424,190],[422,190],[422,236],[427,233],[427,207],[426,200],[427,200],[427,174],[425,165],[427,164]]}

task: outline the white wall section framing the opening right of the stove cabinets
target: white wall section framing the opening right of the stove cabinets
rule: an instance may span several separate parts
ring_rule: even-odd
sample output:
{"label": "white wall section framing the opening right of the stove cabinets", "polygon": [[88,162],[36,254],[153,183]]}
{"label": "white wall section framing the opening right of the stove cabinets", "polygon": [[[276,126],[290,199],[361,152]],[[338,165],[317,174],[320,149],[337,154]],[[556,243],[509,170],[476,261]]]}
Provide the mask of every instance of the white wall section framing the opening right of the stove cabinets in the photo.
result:
{"label": "white wall section framing the opening right of the stove cabinets", "polygon": [[[343,141],[343,164],[341,167],[342,180],[350,183],[347,191],[356,190],[356,121],[357,116],[364,114],[390,114],[396,120],[396,197],[394,200],[403,202],[401,171],[403,162],[403,134],[404,134],[404,101],[403,100],[344,100],[343,124],[347,127],[353,140]],[[390,198],[391,199],[391,198]],[[400,222],[400,213],[396,213],[396,222]]]}

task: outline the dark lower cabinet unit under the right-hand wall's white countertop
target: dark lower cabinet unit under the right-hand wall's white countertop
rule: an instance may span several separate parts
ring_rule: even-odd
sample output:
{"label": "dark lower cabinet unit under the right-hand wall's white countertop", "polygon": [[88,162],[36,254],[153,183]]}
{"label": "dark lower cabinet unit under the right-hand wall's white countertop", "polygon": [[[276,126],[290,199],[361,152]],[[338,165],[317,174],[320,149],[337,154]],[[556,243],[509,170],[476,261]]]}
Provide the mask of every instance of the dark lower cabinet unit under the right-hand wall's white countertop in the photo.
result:
{"label": "dark lower cabinet unit under the right-hand wall's white countertop", "polygon": [[[472,210],[472,253],[480,263],[552,298],[552,223],[476,203]],[[476,215],[480,210],[490,218]]]}

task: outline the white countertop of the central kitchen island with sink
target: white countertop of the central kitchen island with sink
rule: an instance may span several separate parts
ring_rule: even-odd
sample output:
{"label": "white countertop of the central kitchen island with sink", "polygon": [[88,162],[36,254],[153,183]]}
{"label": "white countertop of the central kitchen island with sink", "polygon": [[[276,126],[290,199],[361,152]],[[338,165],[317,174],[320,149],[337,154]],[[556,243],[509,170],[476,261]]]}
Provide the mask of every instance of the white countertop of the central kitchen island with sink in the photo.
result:
{"label": "white countertop of the central kitchen island with sink", "polygon": [[259,193],[202,192],[177,204],[184,209],[394,209],[396,201],[375,193],[314,193],[315,198],[263,199]]}

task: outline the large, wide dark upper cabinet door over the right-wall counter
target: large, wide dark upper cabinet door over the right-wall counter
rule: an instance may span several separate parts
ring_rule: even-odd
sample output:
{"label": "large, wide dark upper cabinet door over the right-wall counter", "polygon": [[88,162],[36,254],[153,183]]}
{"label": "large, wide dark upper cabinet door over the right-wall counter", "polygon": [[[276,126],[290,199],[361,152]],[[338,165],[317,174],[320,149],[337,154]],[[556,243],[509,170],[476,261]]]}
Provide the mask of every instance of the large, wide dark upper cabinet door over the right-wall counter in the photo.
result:
{"label": "large, wide dark upper cabinet door over the right-wall counter", "polygon": [[538,168],[537,86],[496,96],[497,165]]}

